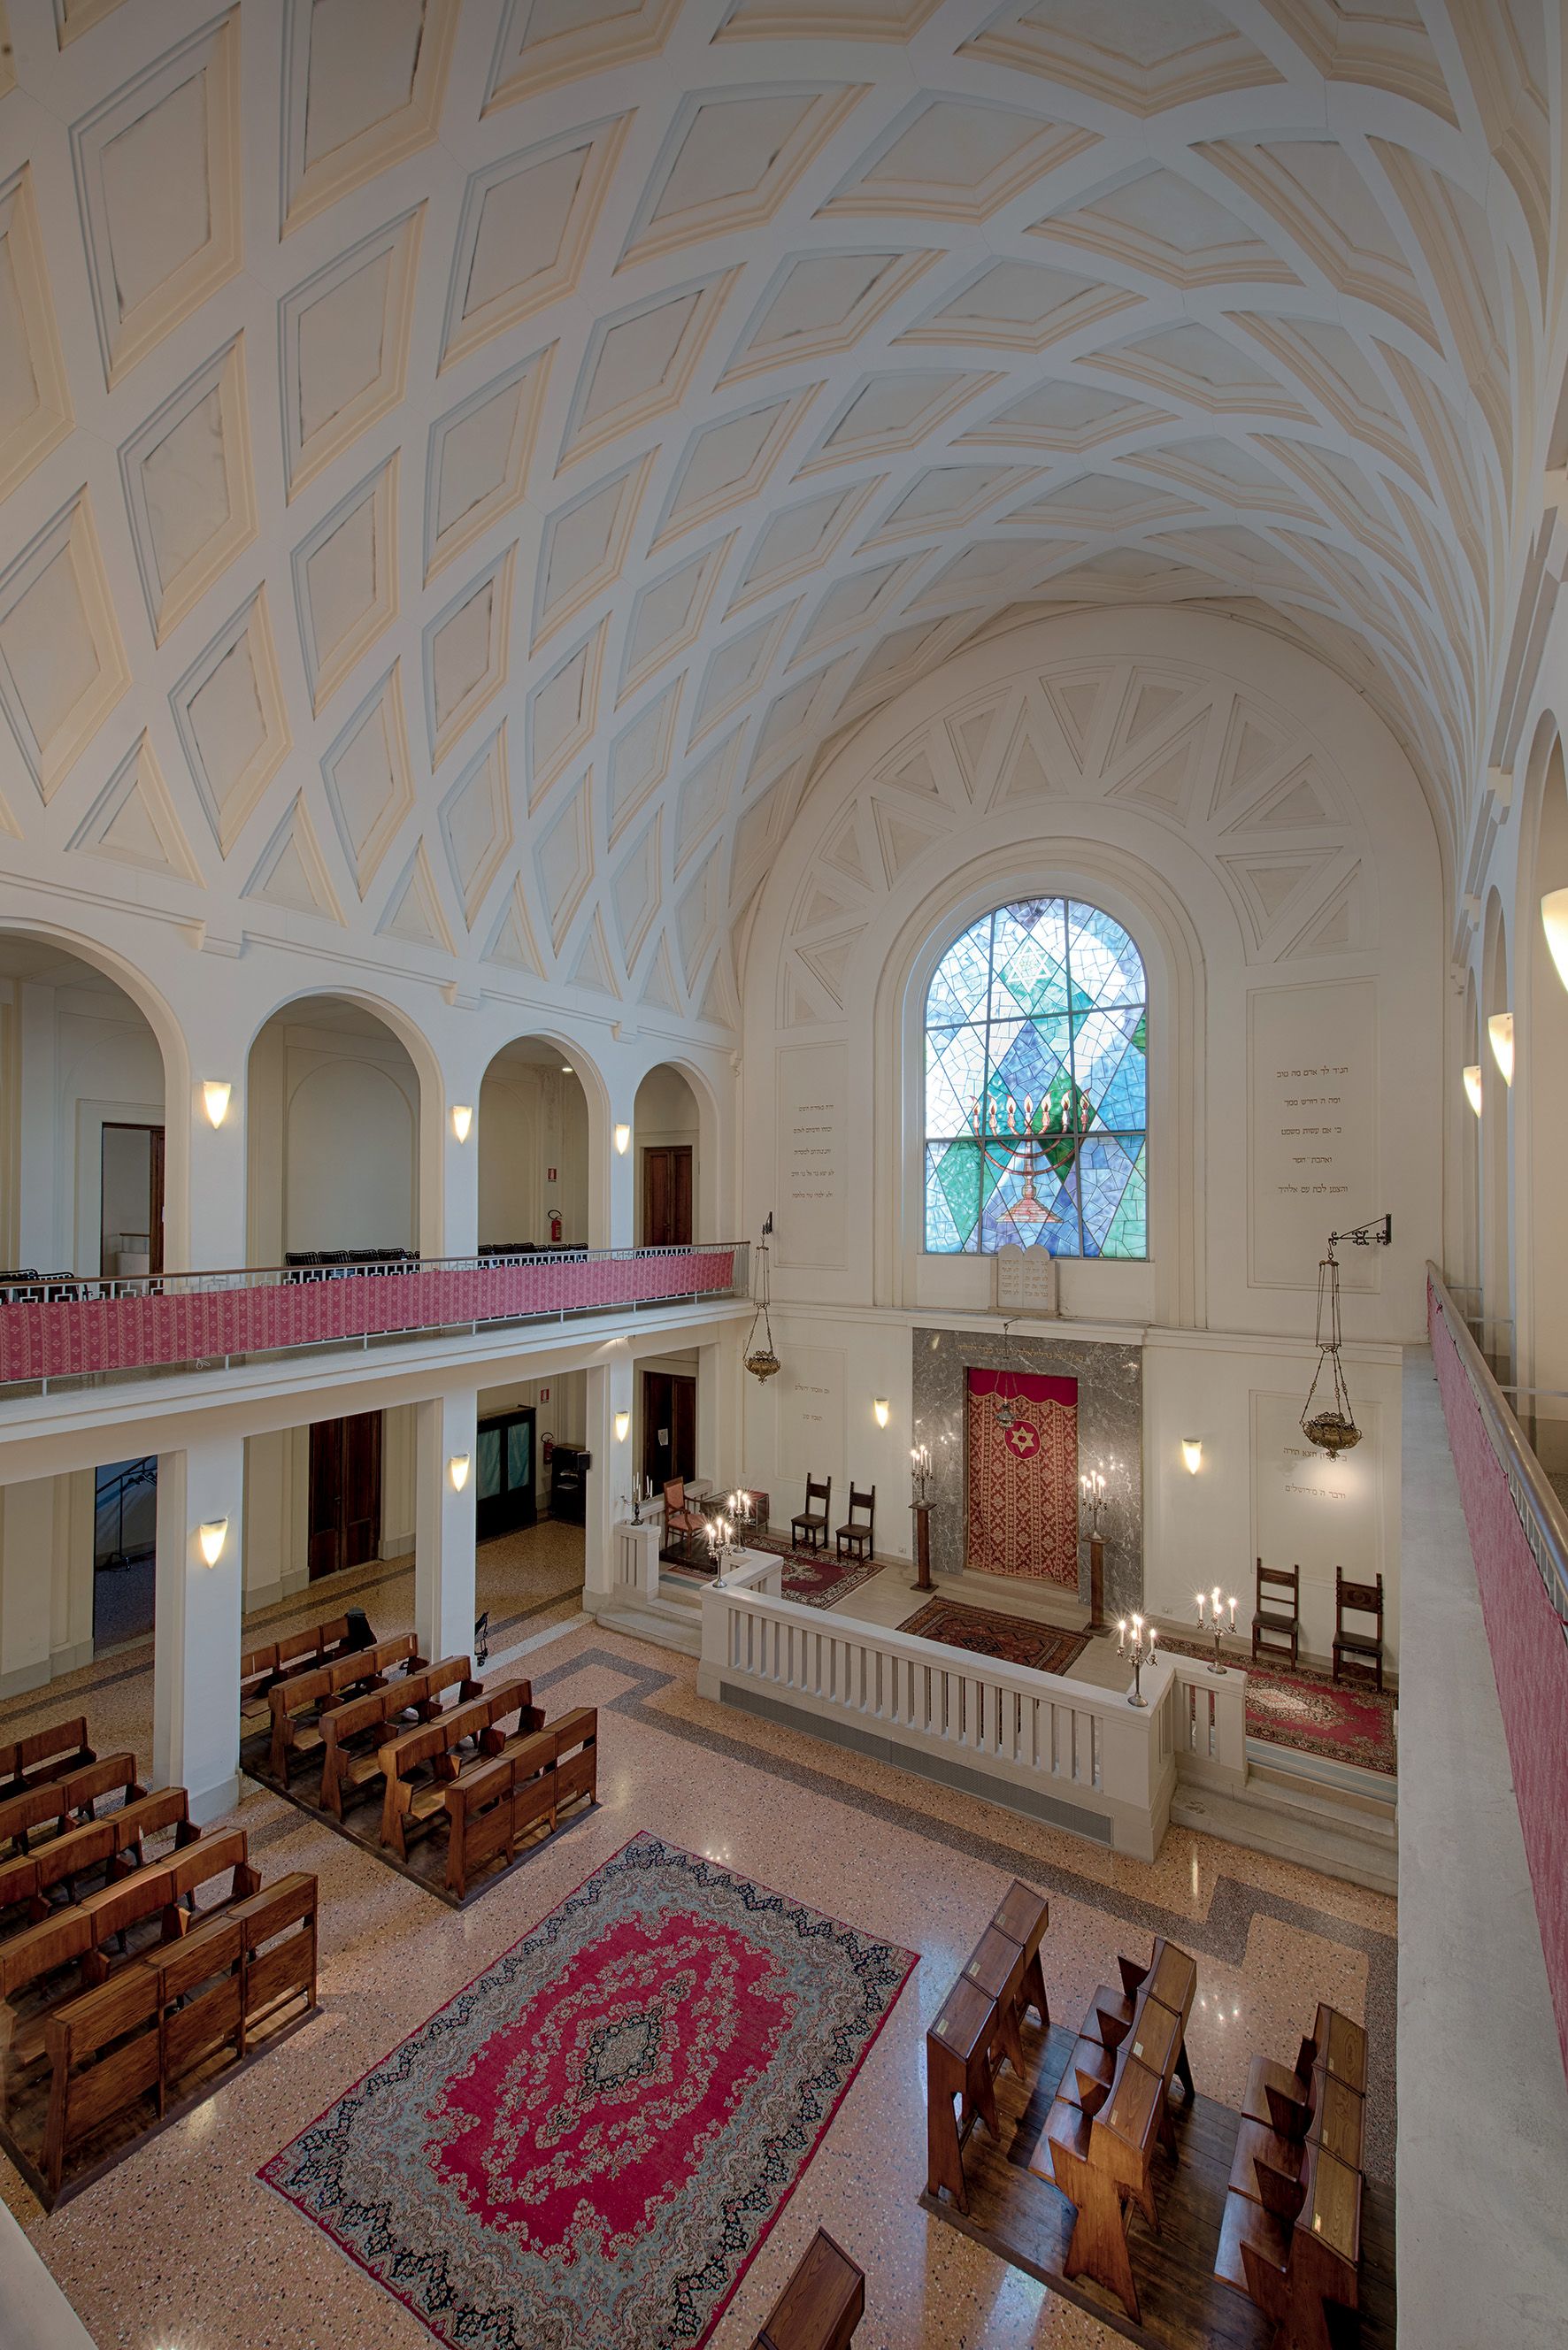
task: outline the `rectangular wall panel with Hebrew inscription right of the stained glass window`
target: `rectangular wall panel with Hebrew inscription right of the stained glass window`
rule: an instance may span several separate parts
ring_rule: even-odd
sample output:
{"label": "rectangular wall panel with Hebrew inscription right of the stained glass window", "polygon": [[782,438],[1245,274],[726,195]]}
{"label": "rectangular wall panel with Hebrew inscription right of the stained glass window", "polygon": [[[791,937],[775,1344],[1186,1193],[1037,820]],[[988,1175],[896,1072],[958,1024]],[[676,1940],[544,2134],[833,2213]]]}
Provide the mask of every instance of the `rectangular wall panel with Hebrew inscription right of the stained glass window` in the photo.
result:
{"label": "rectangular wall panel with Hebrew inscription right of the stained glass window", "polygon": [[[1248,1283],[1312,1290],[1331,1231],[1378,1215],[1373,980],[1248,996]],[[1373,1250],[1340,1250],[1347,1290],[1378,1285]]]}

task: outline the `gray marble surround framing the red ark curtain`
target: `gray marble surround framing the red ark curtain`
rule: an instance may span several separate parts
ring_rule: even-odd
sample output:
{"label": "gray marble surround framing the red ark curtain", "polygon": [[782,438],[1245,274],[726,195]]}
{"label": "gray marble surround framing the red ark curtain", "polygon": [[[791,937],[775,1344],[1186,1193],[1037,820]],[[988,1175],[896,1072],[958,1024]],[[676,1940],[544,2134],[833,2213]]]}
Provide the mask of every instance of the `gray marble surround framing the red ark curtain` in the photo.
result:
{"label": "gray marble surround framing the red ark curtain", "polygon": [[[1079,1382],[1079,1471],[1105,1471],[1105,1607],[1143,1605],[1143,1349],[1135,1342],[1016,1337],[1001,1330],[914,1330],[914,1443],[931,1445],[931,1567],[964,1570],[966,1370],[1030,1370]],[[1079,1528],[1079,1598],[1088,1600],[1088,1520]]]}

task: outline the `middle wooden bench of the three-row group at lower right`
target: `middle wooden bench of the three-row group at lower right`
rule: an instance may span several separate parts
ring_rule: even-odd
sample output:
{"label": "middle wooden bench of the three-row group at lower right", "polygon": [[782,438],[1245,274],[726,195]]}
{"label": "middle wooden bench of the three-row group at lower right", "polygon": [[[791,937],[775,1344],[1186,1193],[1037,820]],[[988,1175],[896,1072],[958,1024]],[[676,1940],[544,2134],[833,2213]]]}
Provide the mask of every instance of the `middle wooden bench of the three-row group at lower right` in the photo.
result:
{"label": "middle wooden bench of the three-row group at lower right", "polygon": [[[1168,2101],[1171,2082],[1185,2066],[1197,1965],[1168,1941],[1154,1943],[1147,1967],[1133,1960],[1119,1965],[1124,1998],[1114,2002],[1112,1995],[1114,2012],[1107,2016],[1095,1995],[1030,2169],[1051,2178],[1077,2207],[1063,2275],[1093,2277],[1140,2324],[1126,2223],[1135,2204],[1150,2228],[1159,2228],[1154,2150],[1161,2146],[1175,2157]],[[1124,2016],[1121,2007],[1131,2014]]]}

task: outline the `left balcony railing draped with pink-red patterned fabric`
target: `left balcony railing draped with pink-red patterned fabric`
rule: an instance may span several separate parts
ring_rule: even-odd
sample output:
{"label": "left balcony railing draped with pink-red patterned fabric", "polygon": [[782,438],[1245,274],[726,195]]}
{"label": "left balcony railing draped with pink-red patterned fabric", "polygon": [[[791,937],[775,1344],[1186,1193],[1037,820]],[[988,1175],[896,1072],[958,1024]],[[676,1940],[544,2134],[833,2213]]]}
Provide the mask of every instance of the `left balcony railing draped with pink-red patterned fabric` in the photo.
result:
{"label": "left balcony railing draped with pink-red patterned fabric", "polygon": [[0,1285],[0,1396],[501,1323],[741,1297],[745,1241],[515,1257],[266,1264],[141,1281]]}

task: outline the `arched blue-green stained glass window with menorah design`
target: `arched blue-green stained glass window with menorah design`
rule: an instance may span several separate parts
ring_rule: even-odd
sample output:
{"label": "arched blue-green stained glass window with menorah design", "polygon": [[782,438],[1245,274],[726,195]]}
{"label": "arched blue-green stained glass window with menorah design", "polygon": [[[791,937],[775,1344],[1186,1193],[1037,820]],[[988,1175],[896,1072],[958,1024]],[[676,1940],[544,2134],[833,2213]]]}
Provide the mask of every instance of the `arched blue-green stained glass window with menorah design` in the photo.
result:
{"label": "arched blue-green stained glass window with menorah design", "polygon": [[1147,987],[1074,898],[983,914],[926,992],[926,1248],[1147,1257]]}

